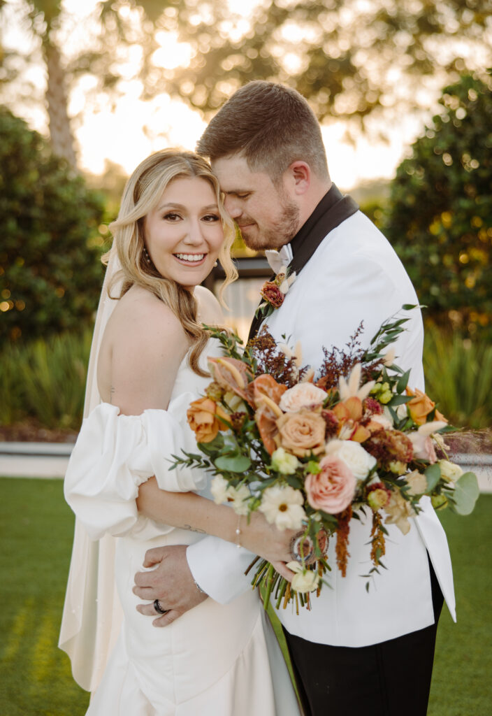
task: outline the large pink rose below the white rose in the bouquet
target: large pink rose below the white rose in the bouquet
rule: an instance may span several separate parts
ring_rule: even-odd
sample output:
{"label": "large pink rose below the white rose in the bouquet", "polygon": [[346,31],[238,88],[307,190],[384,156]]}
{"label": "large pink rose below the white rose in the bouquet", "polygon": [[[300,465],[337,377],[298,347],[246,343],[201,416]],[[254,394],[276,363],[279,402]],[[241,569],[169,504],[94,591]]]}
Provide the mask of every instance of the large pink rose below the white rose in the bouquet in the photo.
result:
{"label": "large pink rose below the white rose in the bouquet", "polygon": [[320,468],[320,473],[306,478],[308,503],[315,510],[336,515],[352,502],[357,480],[347,464],[335,455],[326,455],[320,460]]}

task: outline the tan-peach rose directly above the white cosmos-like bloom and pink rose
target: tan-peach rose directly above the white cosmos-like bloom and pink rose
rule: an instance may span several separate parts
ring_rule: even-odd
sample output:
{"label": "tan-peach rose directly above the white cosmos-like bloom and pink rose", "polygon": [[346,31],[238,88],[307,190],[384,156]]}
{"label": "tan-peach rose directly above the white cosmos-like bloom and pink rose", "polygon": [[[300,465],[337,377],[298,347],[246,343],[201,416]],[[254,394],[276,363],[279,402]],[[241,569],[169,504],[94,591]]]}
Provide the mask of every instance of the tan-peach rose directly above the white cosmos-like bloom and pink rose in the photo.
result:
{"label": "tan-peach rose directly above the white cosmos-like bloom and pink rose", "polygon": [[277,419],[277,428],[280,445],[297,458],[311,452],[319,455],[325,449],[326,424],[318,413],[309,410],[284,413]]}

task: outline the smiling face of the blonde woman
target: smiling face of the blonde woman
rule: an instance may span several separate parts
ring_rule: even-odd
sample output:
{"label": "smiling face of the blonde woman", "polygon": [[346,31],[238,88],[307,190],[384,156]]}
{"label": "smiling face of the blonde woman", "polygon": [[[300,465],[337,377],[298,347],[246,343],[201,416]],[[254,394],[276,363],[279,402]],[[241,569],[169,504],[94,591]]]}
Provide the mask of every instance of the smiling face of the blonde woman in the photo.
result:
{"label": "smiling face of the blonde woman", "polygon": [[188,289],[201,284],[224,240],[212,185],[198,177],[174,179],[145,217],[144,235],[161,276]]}

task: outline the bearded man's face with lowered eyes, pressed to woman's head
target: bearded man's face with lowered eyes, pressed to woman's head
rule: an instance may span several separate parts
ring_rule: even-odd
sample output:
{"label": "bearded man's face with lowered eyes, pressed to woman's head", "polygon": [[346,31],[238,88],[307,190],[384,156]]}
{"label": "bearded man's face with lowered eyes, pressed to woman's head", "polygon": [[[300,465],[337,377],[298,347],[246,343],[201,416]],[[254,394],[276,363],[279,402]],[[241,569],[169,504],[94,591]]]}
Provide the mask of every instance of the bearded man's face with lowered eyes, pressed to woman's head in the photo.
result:
{"label": "bearded man's face with lowered eyes, pressed to woman's head", "polygon": [[274,184],[266,172],[252,172],[240,155],[217,159],[212,169],[246,246],[260,251],[289,243],[300,228],[300,218],[285,178]]}

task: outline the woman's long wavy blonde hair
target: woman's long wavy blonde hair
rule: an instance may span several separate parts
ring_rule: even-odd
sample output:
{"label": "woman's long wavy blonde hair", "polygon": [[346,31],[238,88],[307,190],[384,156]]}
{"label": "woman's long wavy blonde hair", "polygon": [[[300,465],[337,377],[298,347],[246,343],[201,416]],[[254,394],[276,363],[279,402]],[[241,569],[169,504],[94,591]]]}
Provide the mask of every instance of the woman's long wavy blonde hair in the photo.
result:
{"label": "woman's long wavy blonde hair", "polygon": [[[205,159],[192,152],[177,149],[164,149],[144,159],[125,185],[122,203],[116,221],[109,224],[114,236],[112,248],[102,257],[103,263],[109,261],[112,253],[117,253],[121,270],[109,284],[111,298],[121,299],[134,285],[142,286],[169,306],[181,322],[184,332],[192,341],[190,367],[198,375],[208,375],[200,368],[199,359],[207,343],[208,334],[197,321],[197,301],[195,296],[172,279],[161,276],[152,261],[145,257],[144,218],[157,208],[162,193],[170,182],[179,178],[197,177],[210,183],[217,197],[220,218],[224,228],[224,242],[219,258],[225,271],[225,280],[220,287],[220,299],[228,284],[237,278],[237,271],[230,258],[230,248],[235,238],[232,219],[225,212],[222,194],[217,178],[212,174]],[[111,290],[117,281],[123,279],[119,296],[111,296]],[[223,303],[223,301],[222,301]]]}

